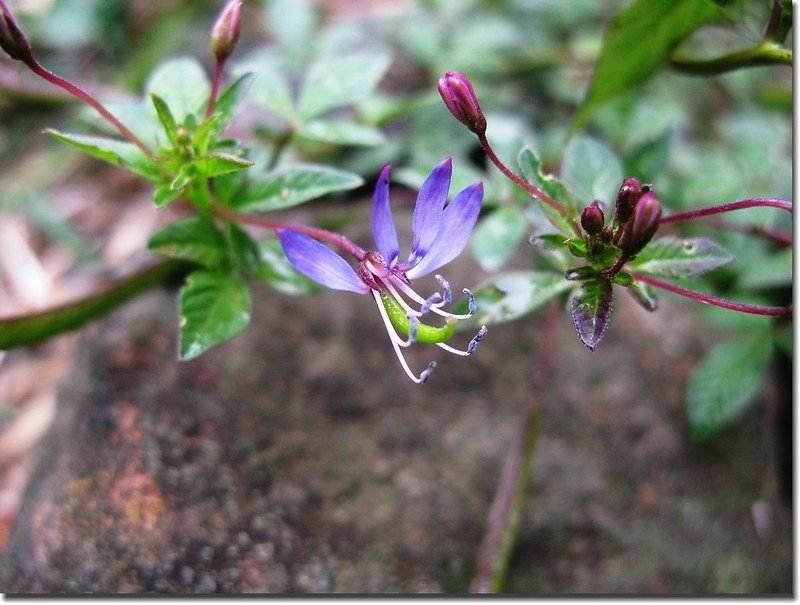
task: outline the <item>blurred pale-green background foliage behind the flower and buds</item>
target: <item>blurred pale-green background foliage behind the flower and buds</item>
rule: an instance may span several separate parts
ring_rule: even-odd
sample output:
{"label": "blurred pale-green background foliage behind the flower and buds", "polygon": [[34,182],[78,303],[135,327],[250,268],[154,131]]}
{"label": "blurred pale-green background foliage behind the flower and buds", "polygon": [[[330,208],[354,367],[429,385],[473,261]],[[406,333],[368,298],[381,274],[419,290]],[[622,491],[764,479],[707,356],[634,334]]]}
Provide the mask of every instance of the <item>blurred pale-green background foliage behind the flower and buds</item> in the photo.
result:
{"label": "blurred pale-green background foliage behind the flower and buds", "polygon": [[[675,46],[682,56],[698,58],[753,46],[772,5],[768,0],[704,2],[696,23],[687,25],[672,15],[666,31],[645,29],[638,39],[628,39],[629,60],[623,65],[617,58],[611,73],[629,67],[639,71],[619,89],[601,92],[604,80],[593,78],[608,49],[609,24],[632,5],[658,3],[246,2],[230,72],[254,71],[256,79],[232,133],[252,148],[250,159],[262,166],[304,161],[357,173],[365,185],[355,194],[339,194],[342,202],[363,200],[387,162],[395,167],[393,179],[413,188],[431,166],[453,156],[453,190],[477,179],[485,184],[486,208],[472,251],[488,272],[520,262],[546,268],[528,245],[543,219],[487,164],[475,138],[443,107],[436,82],[448,70],[472,79],[488,118],[488,138],[511,166],[528,144],[546,172],[563,176],[564,150],[579,130],[611,149],[624,176],[652,183],[667,213],[751,197],[791,199],[789,68],[700,77],[671,69],[666,57],[656,58],[649,71],[642,67],[642,57],[662,43],[672,45],[670,52]],[[686,0],[674,5],[700,6]],[[42,62],[85,83],[102,99],[138,98],[150,74],[168,58],[197,57],[208,72],[213,66],[208,31],[219,2],[18,0],[12,7]],[[305,90],[324,86],[331,73],[345,77],[354,70],[359,80],[343,103],[304,96]],[[97,242],[73,224],[69,213],[56,210],[53,199],[55,185],[86,170],[81,164],[86,160],[38,136],[46,126],[74,129],[77,120],[89,128],[97,127],[96,120],[8,61],[0,62],[0,88],[0,190],[5,192],[0,211],[22,211],[42,242],[67,250],[75,265],[97,262]],[[107,174],[95,164],[89,170],[98,178]],[[577,200],[579,208],[590,201]],[[348,208],[326,220],[366,217],[366,205]],[[734,213],[725,221],[791,230],[787,213],[767,209]],[[697,225],[685,230],[700,232],[708,230]],[[785,303],[792,279],[790,250],[742,233],[714,234],[737,261],[692,286],[737,300]],[[695,435],[705,437],[754,399],[771,358],[770,343],[791,355],[792,339],[790,325],[728,311],[697,312],[732,339],[712,349],[690,381],[689,418]],[[741,379],[739,388],[714,390],[734,376]]]}

